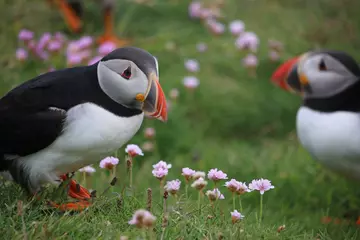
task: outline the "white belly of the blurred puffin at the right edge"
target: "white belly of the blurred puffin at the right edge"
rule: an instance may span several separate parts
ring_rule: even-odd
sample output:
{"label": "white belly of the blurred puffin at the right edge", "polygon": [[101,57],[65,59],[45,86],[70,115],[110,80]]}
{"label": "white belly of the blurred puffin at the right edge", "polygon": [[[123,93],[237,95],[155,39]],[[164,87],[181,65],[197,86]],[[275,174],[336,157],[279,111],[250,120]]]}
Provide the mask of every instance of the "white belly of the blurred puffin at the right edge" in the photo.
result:
{"label": "white belly of the blurred puffin at the right edge", "polygon": [[360,115],[320,113],[301,107],[297,134],[311,155],[329,168],[360,179]]}

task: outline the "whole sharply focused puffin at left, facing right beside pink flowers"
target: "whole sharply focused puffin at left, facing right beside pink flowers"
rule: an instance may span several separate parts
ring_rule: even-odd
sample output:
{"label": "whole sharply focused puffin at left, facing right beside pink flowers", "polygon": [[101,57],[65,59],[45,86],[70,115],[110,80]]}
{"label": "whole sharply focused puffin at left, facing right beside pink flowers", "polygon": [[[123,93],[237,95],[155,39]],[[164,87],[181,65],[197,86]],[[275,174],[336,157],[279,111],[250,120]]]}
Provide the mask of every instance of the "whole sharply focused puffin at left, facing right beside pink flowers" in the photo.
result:
{"label": "whole sharply focused puffin at left, facing right beside pink flowers", "polygon": [[118,48],[93,65],[44,73],[0,99],[0,172],[32,196],[66,181],[75,201],[51,205],[83,210],[91,195],[68,173],[123,146],[144,116],[167,121],[158,61],[143,49]]}

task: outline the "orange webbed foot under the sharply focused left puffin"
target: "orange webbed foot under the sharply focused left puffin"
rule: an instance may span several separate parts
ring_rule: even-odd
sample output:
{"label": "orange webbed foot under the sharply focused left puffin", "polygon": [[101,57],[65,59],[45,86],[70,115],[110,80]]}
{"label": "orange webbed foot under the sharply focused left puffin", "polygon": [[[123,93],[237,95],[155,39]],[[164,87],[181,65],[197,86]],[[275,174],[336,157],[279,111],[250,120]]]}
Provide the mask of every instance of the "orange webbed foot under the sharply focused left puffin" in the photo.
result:
{"label": "orange webbed foot under the sharply focused left puffin", "polygon": [[[63,176],[61,176],[61,179],[68,180],[68,177],[66,175],[63,175]],[[91,195],[86,188],[80,186],[78,183],[76,183],[72,179],[70,179],[68,186],[69,186],[68,195],[79,201],[71,202],[71,203],[64,203],[64,204],[56,204],[54,202],[50,202],[49,203],[50,206],[60,209],[61,211],[67,211],[67,210],[82,211],[91,205],[91,203],[89,201],[91,199]]]}

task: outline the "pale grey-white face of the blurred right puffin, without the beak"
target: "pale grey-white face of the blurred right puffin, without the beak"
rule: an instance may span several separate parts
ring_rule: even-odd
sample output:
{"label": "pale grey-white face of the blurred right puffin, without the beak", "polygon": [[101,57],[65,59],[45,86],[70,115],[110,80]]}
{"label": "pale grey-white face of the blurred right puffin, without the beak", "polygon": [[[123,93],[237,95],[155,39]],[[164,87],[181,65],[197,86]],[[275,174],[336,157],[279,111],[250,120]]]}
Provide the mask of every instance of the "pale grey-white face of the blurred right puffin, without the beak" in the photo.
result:
{"label": "pale grey-white face of the blurred right puffin, without the beak", "polygon": [[326,53],[310,53],[300,59],[298,75],[306,77],[311,91],[304,98],[332,97],[359,79],[340,61]]}

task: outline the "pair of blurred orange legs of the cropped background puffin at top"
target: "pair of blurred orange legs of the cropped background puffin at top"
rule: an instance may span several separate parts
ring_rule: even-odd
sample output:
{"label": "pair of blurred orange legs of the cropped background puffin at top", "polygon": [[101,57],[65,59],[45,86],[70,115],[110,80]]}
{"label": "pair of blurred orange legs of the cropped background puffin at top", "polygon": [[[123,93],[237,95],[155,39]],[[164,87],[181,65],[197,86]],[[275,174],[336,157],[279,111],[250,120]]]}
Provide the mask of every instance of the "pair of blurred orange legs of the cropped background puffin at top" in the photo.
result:
{"label": "pair of blurred orange legs of the cropped background puffin at top", "polygon": [[[73,33],[82,30],[83,5],[84,0],[47,0],[50,4],[55,4],[61,12],[65,23]],[[96,0],[101,4],[104,18],[104,34],[98,39],[98,43],[113,42],[118,47],[129,43],[126,39],[120,39],[114,34],[114,7],[116,0]]]}

